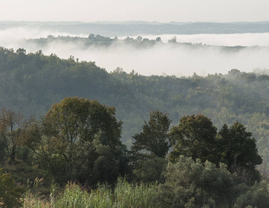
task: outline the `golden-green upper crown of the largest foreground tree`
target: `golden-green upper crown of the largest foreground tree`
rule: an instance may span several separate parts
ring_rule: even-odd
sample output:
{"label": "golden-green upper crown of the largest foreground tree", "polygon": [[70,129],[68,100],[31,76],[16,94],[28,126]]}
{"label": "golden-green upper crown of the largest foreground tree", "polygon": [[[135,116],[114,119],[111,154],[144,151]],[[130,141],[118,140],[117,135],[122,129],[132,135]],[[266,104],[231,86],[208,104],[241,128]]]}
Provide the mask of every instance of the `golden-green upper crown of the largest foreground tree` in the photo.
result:
{"label": "golden-green upper crown of the largest foreground tree", "polygon": [[92,141],[102,131],[109,138],[108,145],[116,147],[121,144],[122,122],[117,122],[115,111],[114,107],[101,105],[97,100],[66,97],[51,106],[44,122],[51,123],[52,136],[63,144]]}

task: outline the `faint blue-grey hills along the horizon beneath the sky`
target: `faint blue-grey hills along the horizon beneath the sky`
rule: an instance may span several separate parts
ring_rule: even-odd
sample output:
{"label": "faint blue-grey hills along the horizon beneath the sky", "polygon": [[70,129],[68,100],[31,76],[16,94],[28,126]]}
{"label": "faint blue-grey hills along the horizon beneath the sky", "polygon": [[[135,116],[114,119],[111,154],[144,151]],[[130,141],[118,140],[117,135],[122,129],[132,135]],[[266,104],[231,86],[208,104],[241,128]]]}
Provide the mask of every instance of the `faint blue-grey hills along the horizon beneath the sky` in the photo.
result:
{"label": "faint blue-grey hills along the horizon beneath the sky", "polygon": [[103,34],[104,36],[134,36],[138,34],[231,34],[231,33],[266,33],[269,22],[19,22],[0,21],[0,30],[10,27],[29,27],[58,32]]}

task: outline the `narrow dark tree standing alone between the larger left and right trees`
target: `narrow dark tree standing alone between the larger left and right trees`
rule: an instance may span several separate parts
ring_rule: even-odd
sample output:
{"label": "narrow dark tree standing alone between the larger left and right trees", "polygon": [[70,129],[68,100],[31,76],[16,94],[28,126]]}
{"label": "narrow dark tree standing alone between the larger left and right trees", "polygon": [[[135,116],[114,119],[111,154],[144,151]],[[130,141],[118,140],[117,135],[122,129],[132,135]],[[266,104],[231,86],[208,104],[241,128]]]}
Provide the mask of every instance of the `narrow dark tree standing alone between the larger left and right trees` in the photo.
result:
{"label": "narrow dark tree standing alone between the larger left and right trees", "polygon": [[[140,180],[160,180],[160,169],[166,165],[161,160],[165,158],[169,150],[168,130],[171,120],[168,113],[162,113],[159,110],[150,112],[148,123],[144,121],[142,132],[133,136],[135,142],[131,147],[131,165],[133,174]],[[147,163],[148,162],[148,163]],[[145,166],[150,169],[145,169]]]}

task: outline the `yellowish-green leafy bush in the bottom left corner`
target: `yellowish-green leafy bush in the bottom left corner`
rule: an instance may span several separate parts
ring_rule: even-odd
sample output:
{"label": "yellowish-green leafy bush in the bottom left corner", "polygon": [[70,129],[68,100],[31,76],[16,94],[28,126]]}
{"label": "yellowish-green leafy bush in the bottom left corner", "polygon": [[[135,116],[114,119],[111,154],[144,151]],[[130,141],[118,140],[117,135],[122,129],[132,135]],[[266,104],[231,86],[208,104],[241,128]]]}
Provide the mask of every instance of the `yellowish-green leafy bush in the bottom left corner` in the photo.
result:
{"label": "yellowish-green leafy bush in the bottom left corner", "polygon": [[3,173],[0,169],[0,207],[20,208],[22,206],[21,197],[23,189],[14,187],[14,179],[10,173]]}

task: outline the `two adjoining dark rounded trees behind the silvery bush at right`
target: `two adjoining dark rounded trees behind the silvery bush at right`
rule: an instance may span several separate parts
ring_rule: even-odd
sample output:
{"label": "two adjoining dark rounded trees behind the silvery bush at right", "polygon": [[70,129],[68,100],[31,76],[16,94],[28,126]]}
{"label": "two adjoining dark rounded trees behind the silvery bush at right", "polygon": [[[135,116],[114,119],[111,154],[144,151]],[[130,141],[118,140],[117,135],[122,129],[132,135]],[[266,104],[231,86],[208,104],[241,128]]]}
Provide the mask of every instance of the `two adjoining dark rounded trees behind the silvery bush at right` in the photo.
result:
{"label": "two adjoining dark rounded trees behind the silvery bush at right", "polygon": [[183,116],[177,126],[169,132],[172,151],[169,160],[176,162],[179,155],[199,158],[218,165],[225,163],[234,173],[237,183],[254,183],[259,181],[260,174],[256,166],[262,158],[256,148],[256,140],[251,138],[242,123],[236,121],[230,127],[223,124],[217,134],[217,128],[210,119],[202,114]]}

